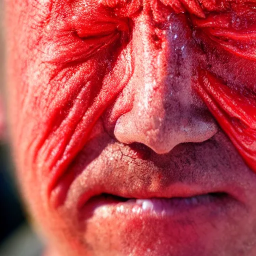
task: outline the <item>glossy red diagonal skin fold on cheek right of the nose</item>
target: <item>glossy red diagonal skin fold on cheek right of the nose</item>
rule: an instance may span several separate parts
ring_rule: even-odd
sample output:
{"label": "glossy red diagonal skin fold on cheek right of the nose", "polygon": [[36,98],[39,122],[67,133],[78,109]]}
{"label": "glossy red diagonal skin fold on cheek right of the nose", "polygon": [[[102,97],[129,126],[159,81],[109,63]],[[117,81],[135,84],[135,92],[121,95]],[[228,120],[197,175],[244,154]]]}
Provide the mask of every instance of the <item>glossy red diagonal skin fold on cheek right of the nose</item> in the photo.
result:
{"label": "glossy red diagonal skin fold on cheek right of the nose", "polygon": [[199,72],[195,89],[244,161],[256,172],[256,95],[234,90],[207,71]]}

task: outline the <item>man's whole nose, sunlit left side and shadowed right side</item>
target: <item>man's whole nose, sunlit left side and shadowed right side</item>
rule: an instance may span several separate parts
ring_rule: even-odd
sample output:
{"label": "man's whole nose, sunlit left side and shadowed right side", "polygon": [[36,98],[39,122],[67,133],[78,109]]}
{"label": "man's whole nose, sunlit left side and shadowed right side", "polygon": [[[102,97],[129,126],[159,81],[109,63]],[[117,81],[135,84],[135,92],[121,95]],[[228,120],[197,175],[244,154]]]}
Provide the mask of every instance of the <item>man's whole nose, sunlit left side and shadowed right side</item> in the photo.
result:
{"label": "man's whole nose, sunlit left side and shadowed right side", "polygon": [[132,34],[134,101],[115,124],[122,143],[140,142],[158,154],[184,142],[202,142],[217,125],[191,86],[193,55],[184,20],[170,16],[166,29],[142,13]]}

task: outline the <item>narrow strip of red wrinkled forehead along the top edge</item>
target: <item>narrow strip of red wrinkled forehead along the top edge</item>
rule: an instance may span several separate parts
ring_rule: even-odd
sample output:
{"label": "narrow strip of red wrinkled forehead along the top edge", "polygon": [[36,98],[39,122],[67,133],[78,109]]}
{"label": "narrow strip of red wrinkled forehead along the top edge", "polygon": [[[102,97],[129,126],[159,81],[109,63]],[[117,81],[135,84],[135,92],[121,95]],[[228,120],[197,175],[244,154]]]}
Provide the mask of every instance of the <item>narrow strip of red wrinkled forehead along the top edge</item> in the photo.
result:
{"label": "narrow strip of red wrinkled forehead along the top edge", "polygon": [[[237,5],[240,8],[244,4],[248,8],[256,8],[256,0],[5,0],[7,13],[13,14],[13,11],[16,11],[21,14],[22,12],[26,12],[22,16],[29,16],[34,19],[35,17],[37,19],[43,19],[49,14],[56,14],[70,8],[75,8],[76,11],[83,12],[89,10],[92,6],[94,8],[106,6],[115,10],[129,6],[132,12],[143,7],[146,8],[146,6],[150,6],[151,8],[171,7],[172,10],[178,13],[189,11],[203,17],[203,12],[205,11],[223,11]],[[130,11],[126,10],[126,15],[128,14],[130,14]],[[11,17],[15,19],[17,16],[11,15]]]}

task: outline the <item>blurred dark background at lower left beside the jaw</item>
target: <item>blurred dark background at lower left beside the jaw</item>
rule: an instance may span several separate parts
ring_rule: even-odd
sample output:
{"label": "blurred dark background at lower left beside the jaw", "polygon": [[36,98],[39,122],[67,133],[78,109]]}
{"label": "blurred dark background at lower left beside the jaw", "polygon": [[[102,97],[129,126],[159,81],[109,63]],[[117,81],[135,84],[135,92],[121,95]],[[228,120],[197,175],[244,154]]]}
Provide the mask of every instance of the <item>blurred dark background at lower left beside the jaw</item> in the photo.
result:
{"label": "blurred dark background at lower left beside the jaw", "polygon": [[0,256],[41,256],[42,243],[25,219],[6,138],[0,142]]}

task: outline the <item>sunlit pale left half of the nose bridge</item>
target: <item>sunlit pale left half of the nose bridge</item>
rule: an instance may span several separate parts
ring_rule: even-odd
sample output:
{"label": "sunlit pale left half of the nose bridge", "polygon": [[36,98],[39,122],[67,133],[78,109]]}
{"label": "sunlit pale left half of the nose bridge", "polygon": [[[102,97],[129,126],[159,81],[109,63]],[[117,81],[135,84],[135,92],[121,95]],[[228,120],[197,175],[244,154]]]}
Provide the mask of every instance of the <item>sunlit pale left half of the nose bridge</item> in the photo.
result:
{"label": "sunlit pale left half of the nose bridge", "polygon": [[[150,107],[158,101],[158,108],[161,108],[161,91],[164,70],[161,68],[163,60],[162,38],[159,31],[154,28],[145,15],[137,20],[133,32],[133,63],[134,73],[131,78],[135,93],[134,108],[138,113],[149,111]],[[154,99],[154,100],[153,100]],[[155,111],[156,109],[154,109]]]}

